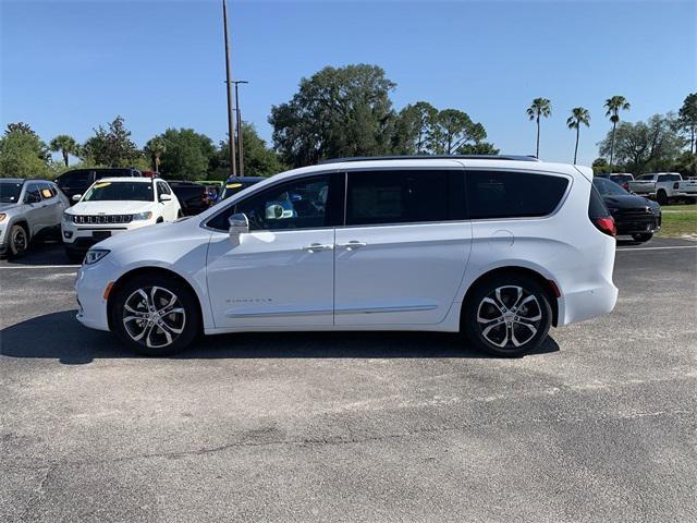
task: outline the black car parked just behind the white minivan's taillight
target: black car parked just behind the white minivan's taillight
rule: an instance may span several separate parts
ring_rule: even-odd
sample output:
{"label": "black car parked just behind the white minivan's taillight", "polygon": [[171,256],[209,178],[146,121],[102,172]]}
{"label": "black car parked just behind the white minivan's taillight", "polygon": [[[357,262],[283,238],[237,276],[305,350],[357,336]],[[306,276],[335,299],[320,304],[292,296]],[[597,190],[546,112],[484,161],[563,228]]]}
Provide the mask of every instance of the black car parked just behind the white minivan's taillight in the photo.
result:
{"label": "black car parked just behind the white minivan's taillight", "polygon": [[610,210],[617,234],[628,234],[637,242],[648,242],[661,228],[661,206],[656,202],[629,194],[609,180],[596,178],[592,184]]}

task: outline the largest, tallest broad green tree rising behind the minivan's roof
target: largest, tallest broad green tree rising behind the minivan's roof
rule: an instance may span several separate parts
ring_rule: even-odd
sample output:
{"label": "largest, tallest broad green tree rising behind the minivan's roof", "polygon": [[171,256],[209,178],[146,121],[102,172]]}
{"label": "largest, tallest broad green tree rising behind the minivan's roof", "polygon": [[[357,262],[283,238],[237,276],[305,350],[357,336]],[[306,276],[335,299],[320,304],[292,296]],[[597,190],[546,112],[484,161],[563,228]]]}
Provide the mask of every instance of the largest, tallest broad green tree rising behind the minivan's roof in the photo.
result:
{"label": "largest, tallest broad green tree rising behind the minivan's roof", "polygon": [[389,153],[394,86],[381,68],[367,64],[328,66],[301,80],[289,102],[271,108],[274,147],[294,167]]}

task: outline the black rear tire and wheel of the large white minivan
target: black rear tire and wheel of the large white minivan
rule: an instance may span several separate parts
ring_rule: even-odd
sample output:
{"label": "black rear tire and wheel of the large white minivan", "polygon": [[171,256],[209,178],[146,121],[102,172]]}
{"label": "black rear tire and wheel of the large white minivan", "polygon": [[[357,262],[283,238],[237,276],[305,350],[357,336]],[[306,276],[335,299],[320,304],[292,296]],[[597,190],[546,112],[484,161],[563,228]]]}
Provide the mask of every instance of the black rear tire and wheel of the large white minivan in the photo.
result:
{"label": "black rear tire and wheel of the large white minivan", "polygon": [[475,348],[503,357],[536,350],[551,324],[548,293],[535,279],[515,272],[499,273],[478,283],[467,295],[462,317],[462,330]]}

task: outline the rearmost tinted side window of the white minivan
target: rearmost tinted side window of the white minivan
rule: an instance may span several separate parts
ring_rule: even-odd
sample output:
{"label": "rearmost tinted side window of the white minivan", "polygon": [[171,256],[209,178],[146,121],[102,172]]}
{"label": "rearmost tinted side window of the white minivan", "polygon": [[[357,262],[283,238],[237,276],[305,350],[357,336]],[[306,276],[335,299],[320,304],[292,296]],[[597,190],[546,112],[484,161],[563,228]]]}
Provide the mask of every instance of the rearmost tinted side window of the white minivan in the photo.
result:
{"label": "rearmost tinted side window of the white minivan", "polygon": [[467,171],[469,217],[523,218],[551,214],[568,180],[531,172]]}

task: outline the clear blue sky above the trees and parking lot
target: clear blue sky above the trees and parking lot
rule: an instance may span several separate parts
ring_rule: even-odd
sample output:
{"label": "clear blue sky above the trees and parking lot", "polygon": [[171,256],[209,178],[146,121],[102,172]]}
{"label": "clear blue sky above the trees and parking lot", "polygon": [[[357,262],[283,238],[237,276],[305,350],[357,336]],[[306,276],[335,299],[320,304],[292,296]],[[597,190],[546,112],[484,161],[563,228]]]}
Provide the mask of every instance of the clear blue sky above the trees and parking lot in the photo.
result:
{"label": "clear blue sky above the trees and parking lot", "polygon": [[[504,153],[534,154],[530,100],[552,100],[540,156],[571,161],[571,108],[590,110],[579,163],[609,130],[621,94],[636,121],[697,89],[697,2],[230,1],[243,117],[270,139],[272,105],[325,65],[375,63],[395,108],[427,100],[481,122]],[[221,4],[0,0],[0,124],[80,141],[117,114],[138,145],[168,126],[225,135]]]}

